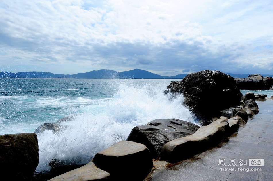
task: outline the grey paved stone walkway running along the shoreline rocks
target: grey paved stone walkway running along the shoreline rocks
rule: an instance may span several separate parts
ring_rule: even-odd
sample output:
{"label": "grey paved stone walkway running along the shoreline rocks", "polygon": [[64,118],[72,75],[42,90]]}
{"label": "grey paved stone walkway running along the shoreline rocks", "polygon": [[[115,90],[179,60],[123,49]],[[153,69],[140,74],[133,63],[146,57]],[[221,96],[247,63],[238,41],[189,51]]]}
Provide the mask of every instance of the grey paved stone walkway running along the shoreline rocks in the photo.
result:
{"label": "grey paved stone walkway running along the shoreline rocks", "polygon": [[[240,126],[224,142],[167,168],[156,170],[151,180],[164,181],[252,181],[273,180],[273,100],[256,100],[259,113]],[[269,111],[267,111],[269,110]],[[264,166],[248,166],[248,159],[263,158]],[[225,159],[227,166],[218,166]],[[230,159],[247,159],[247,166],[228,166]],[[261,168],[262,171],[221,171],[221,168]]]}

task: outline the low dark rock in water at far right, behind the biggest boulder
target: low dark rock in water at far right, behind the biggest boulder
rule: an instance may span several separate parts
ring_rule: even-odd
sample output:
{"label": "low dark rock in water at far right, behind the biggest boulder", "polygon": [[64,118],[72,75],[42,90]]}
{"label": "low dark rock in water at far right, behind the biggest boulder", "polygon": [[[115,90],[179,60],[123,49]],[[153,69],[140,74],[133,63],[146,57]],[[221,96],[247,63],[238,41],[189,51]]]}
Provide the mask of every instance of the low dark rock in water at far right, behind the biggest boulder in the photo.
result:
{"label": "low dark rock in water at far right, behind the biggest boulder", "polygon": [[264,90],[273,85],[272,77],[263,77],[260,74],[251,74],[247,78],[235,78],[239,89]]}

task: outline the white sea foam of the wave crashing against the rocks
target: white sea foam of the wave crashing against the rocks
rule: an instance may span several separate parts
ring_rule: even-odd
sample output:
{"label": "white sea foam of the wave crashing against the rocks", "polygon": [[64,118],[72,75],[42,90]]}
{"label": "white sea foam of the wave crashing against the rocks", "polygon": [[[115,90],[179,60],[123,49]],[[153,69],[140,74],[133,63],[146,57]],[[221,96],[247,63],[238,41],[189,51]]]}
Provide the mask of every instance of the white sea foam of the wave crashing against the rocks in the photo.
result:
{"label": "white sea foam of the wave crashing against the rocks", "polygon": [[154,119],[177,118],[193,122],[190,111],[181,105],[182,96],[173,99],[163,94],[166,85],[118,86],[113,98],[89,105],[74,121],[64,122],[67,128],[58,135],[51,131],[38,135],[37,171],[48,170],[52,158],[86,163],[95,153],[126,139],[134,126]]}

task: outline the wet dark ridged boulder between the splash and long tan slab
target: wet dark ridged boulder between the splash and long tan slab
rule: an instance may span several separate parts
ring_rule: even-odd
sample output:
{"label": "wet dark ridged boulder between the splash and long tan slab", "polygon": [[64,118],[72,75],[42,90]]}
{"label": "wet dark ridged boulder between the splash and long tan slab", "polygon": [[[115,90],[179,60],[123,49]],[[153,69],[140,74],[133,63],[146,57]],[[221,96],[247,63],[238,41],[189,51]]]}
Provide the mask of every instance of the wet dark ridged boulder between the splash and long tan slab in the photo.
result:
{"label": "wet dark ridged boulder between the splash and long tan slab", "polygon": [[156,158],[165,143],[191,135],[199,128],[193,123],[179,119],[156,119],[146,125],[134,127],[127,140],[146,145]]}

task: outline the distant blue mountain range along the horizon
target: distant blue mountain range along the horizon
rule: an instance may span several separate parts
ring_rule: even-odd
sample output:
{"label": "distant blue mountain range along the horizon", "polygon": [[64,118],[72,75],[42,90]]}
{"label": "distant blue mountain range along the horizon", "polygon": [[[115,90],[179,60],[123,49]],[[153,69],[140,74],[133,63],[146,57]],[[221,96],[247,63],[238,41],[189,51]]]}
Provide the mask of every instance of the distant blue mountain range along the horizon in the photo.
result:
{"label": "distant blue mountain range along the horizon", "polygon": [[[141,70],[141,69],[134,69],[124,72],[117,72],[114,70],[93,70],[91,72],[85,73],[78,73],[72,75],[65,75],[65,74],[53,74],[50,72],[0,72],[0,78],[138,78],[138,79],[182,79],[187,74],[179,74],[176,76],[162,76],[158,74],[154,74],[152,72]],[[229,74],[232,77],[237,78],[244,78],[247,77],[248,74]],[[266,75],[263,76],[270,76],[273,75]]]}

